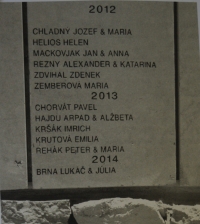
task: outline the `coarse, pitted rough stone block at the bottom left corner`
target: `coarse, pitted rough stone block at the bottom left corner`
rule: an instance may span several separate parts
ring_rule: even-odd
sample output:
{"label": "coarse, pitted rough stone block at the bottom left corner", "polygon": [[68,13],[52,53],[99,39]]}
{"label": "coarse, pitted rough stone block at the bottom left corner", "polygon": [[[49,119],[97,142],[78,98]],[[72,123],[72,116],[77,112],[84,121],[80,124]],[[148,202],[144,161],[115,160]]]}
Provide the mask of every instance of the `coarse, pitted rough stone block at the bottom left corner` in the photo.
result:
{"label": "coarse, pitted rough stone block at the bottom left corner", "polygon": [[68,200],[2,201],[2,224],[66,224],[71,210]]}

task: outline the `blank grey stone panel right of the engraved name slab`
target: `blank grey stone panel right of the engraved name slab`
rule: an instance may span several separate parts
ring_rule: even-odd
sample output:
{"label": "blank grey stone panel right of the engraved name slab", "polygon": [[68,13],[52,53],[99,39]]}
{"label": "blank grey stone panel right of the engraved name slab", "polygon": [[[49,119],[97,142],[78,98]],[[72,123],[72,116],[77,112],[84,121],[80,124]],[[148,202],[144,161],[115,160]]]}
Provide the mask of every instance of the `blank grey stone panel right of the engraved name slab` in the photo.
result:
{"label": "blank grey stone panel right of the engraved name slab", "polygon": [[200,60],[196,3],[178,4],[180,183],[200,186]]}

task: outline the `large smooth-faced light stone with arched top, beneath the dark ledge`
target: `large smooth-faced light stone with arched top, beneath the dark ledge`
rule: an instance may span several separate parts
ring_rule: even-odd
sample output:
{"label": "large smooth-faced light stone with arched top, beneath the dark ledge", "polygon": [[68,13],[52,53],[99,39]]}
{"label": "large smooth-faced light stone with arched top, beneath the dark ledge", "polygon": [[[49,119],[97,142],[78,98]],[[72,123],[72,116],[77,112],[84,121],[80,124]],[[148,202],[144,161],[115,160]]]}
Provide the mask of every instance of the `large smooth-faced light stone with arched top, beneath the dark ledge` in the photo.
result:
{"label": "large smooth-faced light stone with arched top, beneath the dark ledge", "polygon": [[112,198],[72,206],[78,224],[164,224],[159,206],[154,201]]}

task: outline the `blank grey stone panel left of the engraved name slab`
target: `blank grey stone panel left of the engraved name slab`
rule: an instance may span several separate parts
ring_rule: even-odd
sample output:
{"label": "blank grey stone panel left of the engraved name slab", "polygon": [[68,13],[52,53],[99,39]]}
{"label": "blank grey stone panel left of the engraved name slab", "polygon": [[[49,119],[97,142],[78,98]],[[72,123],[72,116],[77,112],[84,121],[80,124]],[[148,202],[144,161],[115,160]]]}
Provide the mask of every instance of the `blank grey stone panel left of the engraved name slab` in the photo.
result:
{"label": "blank grey stone panel left of the engraved name slab", "polygon": [[27,187],[21,3],[0,3],[0,189]]}

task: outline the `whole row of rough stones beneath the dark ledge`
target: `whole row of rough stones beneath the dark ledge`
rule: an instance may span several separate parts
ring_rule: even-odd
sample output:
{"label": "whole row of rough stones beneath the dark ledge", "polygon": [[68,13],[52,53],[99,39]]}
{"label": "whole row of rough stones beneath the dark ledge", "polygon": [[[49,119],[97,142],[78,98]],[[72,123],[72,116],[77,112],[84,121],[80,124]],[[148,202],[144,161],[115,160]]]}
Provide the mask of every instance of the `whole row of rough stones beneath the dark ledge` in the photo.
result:
{"label": "whole row of rough stones beneath the dark ledge", "polygon": [[70,208],[69,200],[3,200],[2,224],[200,224],[200,205],[109,198]]}

